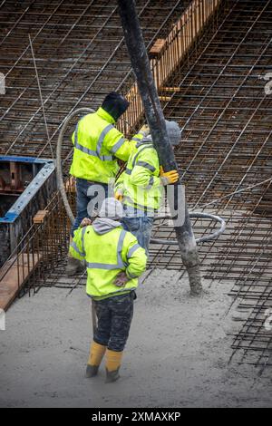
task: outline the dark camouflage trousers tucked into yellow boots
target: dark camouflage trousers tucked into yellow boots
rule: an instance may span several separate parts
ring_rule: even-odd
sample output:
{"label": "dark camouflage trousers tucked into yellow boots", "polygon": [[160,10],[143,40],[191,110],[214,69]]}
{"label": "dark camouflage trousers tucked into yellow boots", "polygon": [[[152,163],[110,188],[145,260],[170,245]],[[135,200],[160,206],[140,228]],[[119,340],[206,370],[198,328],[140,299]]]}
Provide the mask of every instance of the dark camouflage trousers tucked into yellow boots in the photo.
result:
{"label": "dark camouflage trousers tucked into yellow boots", "polygon": [[128,340],[133,316],[135,293],[115,295],[103,300],[95,300],[97,330],[93,340],[112,351],[120,352]]}

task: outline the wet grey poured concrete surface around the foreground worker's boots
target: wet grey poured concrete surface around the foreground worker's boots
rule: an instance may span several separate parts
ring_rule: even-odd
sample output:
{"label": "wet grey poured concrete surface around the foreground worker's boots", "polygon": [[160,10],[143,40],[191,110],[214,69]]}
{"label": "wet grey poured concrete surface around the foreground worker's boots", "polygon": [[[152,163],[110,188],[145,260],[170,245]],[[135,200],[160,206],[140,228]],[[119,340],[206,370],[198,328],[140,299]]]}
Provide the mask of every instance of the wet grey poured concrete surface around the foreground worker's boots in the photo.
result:
{"label": "wet grey poured concrete surface around the foreground worker's boots", "polygon": [[[229,285],[201,298],[154,271],[138,291],[121,380],[84,378],[92,324],[83,287],[24,296],[0,331],[1,407],[271,407],[271,370],[230,363]],[[209,282],[204,282],[206,288]]]}

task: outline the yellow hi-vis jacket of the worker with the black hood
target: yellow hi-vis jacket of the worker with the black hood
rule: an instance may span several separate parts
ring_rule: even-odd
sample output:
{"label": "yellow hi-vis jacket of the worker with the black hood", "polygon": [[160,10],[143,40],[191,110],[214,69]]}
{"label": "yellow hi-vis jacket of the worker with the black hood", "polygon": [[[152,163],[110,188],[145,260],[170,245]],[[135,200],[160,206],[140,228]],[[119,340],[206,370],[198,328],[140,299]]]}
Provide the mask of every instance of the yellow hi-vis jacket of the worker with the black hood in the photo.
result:
{"label": "yellow hi-vis jacket of the worker with the black hood", "polygon": [[[114,119],[102,108],[85,115],[76,126],[72,140],[73,163],[70,173],[76,178],[108,183],[119,171],[117,159],[127,161],[135,141],[124,139]],[[140,140],[142,135],[136,135]]]}

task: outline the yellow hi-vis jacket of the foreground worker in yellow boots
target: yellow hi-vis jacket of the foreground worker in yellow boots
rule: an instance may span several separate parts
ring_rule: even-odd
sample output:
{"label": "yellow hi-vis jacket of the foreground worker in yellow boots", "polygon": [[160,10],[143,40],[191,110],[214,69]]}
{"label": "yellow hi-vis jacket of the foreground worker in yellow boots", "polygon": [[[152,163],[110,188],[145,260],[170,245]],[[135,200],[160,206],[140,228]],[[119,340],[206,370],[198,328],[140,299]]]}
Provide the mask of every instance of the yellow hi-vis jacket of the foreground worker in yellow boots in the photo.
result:
{"label": "yellow hi-vis jacket of the foreground worker in yellow boots", "polygon": [[[74,232],[70,255],[87,263],[87,295],[100,300],[121,295],[138,286],[138,276],[145,271],[147,257],[136,237],[123,228],[97,234],[92,226]],[[124,287],[114,285],[116,276],[125,271],[131,278]]]}

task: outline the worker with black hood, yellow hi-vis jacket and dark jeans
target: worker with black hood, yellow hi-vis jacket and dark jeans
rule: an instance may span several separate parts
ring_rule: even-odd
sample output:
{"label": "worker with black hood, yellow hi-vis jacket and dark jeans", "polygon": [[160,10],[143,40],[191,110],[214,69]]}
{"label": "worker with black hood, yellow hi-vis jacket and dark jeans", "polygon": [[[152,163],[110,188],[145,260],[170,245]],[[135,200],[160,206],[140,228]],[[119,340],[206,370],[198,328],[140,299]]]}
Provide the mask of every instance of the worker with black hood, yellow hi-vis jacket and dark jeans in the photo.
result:
{"label": "worker with black hood, yellow hi-vis jacket and dark jeans", "polygon": [[[85,115],[73,132],[73,163],[70,173],[76,178],[76,218],[71,229],[79,228],[83,218],[88,217],[87,206],[97,198],[108,195],[108,184],[115,179],[119,165],[117,159],[127,161],[135,150],[137,140],[142,134],[135,135],[135,140],[126,140],[114,124],[127,110],[129,102],[117,92],[109,93],[102,106],[91,114]],[[95,186],[95,190],[94,189]],[[90,188],[92,195],[90,195]],[[89,191],[89,195],[88,195]],[[97,194],[99,192],[99,194]],[[66,274],[73,276],[83,269],[77,259],[68,257]]]}

